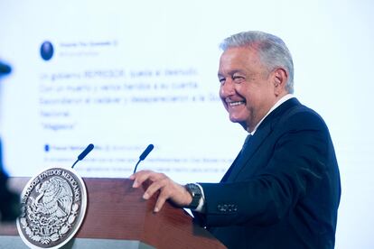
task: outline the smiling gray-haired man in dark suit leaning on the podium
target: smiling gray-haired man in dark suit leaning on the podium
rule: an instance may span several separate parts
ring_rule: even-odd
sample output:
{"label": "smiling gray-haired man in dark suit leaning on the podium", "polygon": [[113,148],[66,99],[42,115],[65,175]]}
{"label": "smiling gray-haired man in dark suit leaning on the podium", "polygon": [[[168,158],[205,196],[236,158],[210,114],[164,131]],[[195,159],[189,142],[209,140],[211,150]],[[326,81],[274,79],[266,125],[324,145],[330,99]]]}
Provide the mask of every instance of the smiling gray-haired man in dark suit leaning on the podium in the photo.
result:
{"label": "smiling gray-haired man in dark suit leaning on the podium", "polygon": [[153,183],[154,211],[166,200],[192,208],[229,248],[333,248],[341,182],[320,115],[292,95],[294,64],[280,38],[241,32],[221,43],[220,98],[229,119],[248,132],[220,183],[182,186],[139,171],[134,187]]}

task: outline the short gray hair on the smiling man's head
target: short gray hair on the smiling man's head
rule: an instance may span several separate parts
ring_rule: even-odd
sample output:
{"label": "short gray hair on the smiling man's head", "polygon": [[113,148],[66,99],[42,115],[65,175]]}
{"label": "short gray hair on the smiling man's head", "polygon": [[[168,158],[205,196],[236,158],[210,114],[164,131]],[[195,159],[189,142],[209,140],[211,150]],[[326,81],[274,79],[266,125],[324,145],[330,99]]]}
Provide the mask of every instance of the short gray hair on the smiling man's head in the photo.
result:
{"label": "short gray hair on the smiling man's head", "polygon": [[294,62],[282,39],[266,32],[249,31],[233,34],[220,43],[222,51],[234,47],[249,47],[258,51],[259,59],[269,71],[285,69],[288,72],[285,90],[294,93]]}

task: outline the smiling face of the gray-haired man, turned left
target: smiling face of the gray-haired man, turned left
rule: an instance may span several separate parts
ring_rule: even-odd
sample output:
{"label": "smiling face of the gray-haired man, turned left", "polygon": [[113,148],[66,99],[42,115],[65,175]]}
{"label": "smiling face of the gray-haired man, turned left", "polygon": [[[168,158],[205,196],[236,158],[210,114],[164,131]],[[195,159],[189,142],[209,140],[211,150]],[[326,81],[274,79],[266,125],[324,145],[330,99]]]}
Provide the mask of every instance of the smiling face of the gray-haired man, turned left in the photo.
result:
{"label": "smiling face of the gray-haired man, turned left", "polygon": [[229,48],[220,57],[220,98],[232,122],[251,132],[276,104],[275,85],[257,51]]}

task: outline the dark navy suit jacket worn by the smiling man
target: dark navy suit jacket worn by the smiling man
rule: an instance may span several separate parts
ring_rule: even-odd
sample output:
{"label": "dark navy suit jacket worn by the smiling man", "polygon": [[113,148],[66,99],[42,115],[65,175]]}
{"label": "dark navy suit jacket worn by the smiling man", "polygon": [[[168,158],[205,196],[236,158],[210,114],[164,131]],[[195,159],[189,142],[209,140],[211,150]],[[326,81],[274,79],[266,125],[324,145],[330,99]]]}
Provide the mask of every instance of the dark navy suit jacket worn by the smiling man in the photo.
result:
{"label": "dark navy suit jacket worn by the smiling man", "polygon": [[296,98],[266,116],[220,183],[201,186],[206,212],[195,215],[229,248],[334,247],[341,183],[332,140]]}

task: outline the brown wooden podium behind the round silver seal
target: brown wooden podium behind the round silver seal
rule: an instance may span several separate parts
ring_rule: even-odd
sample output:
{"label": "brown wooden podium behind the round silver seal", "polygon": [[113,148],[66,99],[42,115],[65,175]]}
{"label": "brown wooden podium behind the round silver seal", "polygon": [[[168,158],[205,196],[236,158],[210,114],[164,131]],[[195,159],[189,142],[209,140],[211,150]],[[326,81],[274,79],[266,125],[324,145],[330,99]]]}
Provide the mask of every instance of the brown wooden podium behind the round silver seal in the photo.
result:
{"label": "brown wooden podium behind the round silver seal", "polygon": [[[14,178],[10,185],[21,190],[27,180]],[[133,189],[132,180],[83,180],[88,194],[86,217],[74,239],[63,248],[226,248],[194,224],[182,208],[166,202],[155,214],[155,197],[144,200],[144,188]],[[0,226],[1,248],[2,243],[13,248],[23,244],[15,222]]]}

